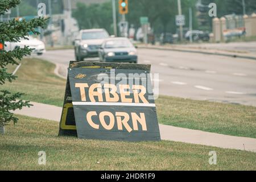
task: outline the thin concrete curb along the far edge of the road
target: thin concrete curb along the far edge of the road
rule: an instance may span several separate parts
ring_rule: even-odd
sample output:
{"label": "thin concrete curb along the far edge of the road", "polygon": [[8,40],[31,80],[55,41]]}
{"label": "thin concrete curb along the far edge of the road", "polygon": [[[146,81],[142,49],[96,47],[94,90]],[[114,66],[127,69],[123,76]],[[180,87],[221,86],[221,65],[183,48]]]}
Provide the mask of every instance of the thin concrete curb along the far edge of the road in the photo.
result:
{"label": "thin concrete curb along the far edge of the road", "polygon": [[189,53],[203,53],[206,55],[217,55],[217,56],[227,56],[227,57],[237,57],[237,58],[242,58],[242,59],[251,59],[251,60],[256,60],[256,57],[254,56],[243,56],[243,55],[238,55],[236,53],[231,54],[231,53],[220,53],[220,52],[206,52],[206,51],[195,51],[195,50],[188,50],[188,49],[178,49],[178,48],[165,48],[165,47],[147,47],[147,46],[139,46],[139,48],[143,49],[157,49],[157,50],[162,50],[162,51],[179,51],[179,52],[189,52]]}

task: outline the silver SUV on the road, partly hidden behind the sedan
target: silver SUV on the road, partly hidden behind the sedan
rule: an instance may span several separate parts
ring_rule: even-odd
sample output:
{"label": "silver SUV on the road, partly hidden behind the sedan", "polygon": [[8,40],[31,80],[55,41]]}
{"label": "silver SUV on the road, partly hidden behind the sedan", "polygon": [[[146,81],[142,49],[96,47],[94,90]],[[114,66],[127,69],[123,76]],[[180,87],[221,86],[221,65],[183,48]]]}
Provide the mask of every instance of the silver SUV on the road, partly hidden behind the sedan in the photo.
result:
{"label": "silver SUV on the road, partly hidden behind the sedan", "polygon": [[85,57],[98,57],[98,49],[109,34],[105,29],[81,30],[75,40],[75,56],[77,61]]}

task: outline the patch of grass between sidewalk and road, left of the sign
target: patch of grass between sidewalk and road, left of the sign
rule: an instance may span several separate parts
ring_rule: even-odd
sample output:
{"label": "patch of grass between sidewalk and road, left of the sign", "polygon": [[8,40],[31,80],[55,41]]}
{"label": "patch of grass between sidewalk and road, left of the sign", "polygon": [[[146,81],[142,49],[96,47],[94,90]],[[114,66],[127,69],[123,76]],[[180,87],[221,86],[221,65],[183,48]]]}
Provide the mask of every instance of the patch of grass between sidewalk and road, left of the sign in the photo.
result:
{"label": "patch of grass between sidewalk and road, left of the sign", "polygon": [[[13,70],[13,67],[10,69]],[[18,78],[1,86],[1,90],[26,93],[22,97],[24,100],[62,106],[65,80],[57,77],[53,73],[54,69],[55,65],[47,61],[23,59],[21,67],[16,72]]]}

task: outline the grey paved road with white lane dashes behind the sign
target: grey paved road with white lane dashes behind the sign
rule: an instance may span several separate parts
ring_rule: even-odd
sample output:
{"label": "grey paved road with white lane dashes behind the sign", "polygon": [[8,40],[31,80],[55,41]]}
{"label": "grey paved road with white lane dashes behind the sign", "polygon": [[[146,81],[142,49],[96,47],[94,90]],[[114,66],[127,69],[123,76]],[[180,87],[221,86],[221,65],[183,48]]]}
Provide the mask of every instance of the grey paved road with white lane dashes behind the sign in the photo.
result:
{"label": "grey paved road with white lane dashes behind the sign", "polygon": [[[139,63],[151,64],[152,73],[159,73],[160,94],[256,106],[255,60],[156,49],[138,52]],[[74,53],[48,51],[42,58],[64,65],[65,75]]]}

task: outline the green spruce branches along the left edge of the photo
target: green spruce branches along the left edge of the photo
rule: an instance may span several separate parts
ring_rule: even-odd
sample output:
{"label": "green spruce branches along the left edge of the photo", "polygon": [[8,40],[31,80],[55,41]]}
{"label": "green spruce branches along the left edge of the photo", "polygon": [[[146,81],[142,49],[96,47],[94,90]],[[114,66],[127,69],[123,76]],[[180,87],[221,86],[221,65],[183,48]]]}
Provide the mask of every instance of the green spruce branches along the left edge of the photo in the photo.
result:
{"label": "green spruce branches along the left edge of the photo", "polygon": [[[20,3],[20,0],[1,0],[0,1],[0,15],[5,14],[5,11],[15,7]],[[8,22],[0,22],[0,42],[19,42],[21,38],[27,39],[28,32],[39,34],[35,30],[36,27],[45,27],[47,19],[35,18],[30,21],[9,20]],[[0,50],[0,85],[5,84],[6,81],[15,80],[16,76],[7,72],[6,66],[8,64],[18,65],[18,60],[23,56],[30,55],[32,49],[29,47],[15,48],[13,51]],[[7,123],[13,121],[16,123],[18,118],[10,111],[22,109],[24,106],[31,106],[28,101],[19,100],[22,93],[10,93],[8,90],[0,91],[0,126],[5,126]]]}

